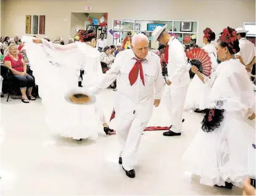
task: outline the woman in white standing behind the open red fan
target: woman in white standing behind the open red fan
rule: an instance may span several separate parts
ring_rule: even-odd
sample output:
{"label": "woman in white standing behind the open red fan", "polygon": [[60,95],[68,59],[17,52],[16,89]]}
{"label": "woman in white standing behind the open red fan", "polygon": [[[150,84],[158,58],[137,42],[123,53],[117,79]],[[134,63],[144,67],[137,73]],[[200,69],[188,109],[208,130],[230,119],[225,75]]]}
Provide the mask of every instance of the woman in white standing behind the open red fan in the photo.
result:
{"label": "woman in white standing behind the open red fan", "polygon": [[[217,68],[217,51],[211,41],[215,40],[215,33],[210,28],[205,28],[203,43],[204,49],[210,56],[212,62],[212,72]],[[189,66],[191,67],[191,65]],[[189,84],[188,92],[186,94],[185,110],[194,110],[196,113],[204,113],[207,108],[207,96],[209,95],[209,86],[204,85],[197,75]]]}

